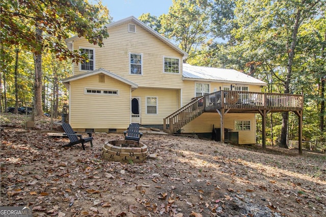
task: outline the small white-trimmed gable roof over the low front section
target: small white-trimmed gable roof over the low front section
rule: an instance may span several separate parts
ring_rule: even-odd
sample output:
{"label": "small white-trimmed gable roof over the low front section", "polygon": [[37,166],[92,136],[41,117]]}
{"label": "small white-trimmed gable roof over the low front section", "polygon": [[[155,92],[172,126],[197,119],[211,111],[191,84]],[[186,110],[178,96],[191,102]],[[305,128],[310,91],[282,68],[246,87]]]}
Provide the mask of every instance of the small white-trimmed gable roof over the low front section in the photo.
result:
{"label": "small white-trimmed gable roof over the low front section", "polygon": [[62,83],[66,86],[67,84],[69,84],[73,80],[78,80],[78,79],[81,79],[81,78],[89,77],[89,76],[100,74],[100,73],[105,74],[105,75],[110,76],[110,77],[113,77],[113,78],[115,78],[117,80],[120,80],[120,82],[123,82],[123,83],[125,83],[127,85],[130,85],[131,88],[133,88],[133,89],[138,88],[137,84],[135,84],[135,83],[131,82],[130,80],[127,80],[127,79],[125,79],[125,78],[123,78],[123,77],[121,77],[121,76],[119,76],[119,75],[117,75],[115,73],[107,71],[107,70],[105,70],[103,68],[99,68],[99,69],[96,69],[94,71],[88,71],[88,72],[85,72],[83,74],[77,74],[77,75],[73,75],[71,77],[67,77],[65,79],[62,79]]}

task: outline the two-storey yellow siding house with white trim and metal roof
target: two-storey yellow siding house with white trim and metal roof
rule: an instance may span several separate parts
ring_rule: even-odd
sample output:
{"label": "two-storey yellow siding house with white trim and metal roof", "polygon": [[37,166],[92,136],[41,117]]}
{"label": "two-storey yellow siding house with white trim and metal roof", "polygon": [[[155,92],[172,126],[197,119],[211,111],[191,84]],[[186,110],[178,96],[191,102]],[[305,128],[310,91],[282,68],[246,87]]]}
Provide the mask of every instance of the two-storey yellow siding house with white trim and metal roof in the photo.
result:
{"label": "two-storey yellow siding house with white trim and metal roof", "polygon": [[[166,117],[196,97],[220,90],[260,92],[266,85],[235,70],[183,64],[187,53],[133,16],[106,28],[110,37],[102,47],[77,36],[66,40],[69,49],[88,57],[63,79],[76,130],[121,132],[130,123],[162,129]],[[216,112],[203,113],[180,132],[210,133],[220,120]],[[240,144],[256,143],[255,123],[255,114],[227,114],[224,127],[239,131]]]}

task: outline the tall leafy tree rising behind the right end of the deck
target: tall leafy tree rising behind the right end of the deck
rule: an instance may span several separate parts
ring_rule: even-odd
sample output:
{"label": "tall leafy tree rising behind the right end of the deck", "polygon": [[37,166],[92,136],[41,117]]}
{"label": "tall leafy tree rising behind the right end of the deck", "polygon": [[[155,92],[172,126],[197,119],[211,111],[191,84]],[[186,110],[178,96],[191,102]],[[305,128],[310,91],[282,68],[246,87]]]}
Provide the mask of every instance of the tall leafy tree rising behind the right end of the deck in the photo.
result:
{"label": "tall leafy tree rising behind the right end of the deck", "polygon": [[[234,47],[243,51],[237,57],[246,60],[247,72],[254,75],[259,67],[268,66],[271,76],[282,84],[282,93],[298,93],[293,86],[293,69],[299,70],[296,50],[305,46],[298,43],[298,33],[303,31],[303,23],[322,13],[322,5],[324,2],[319,0],[237,0],[231,33]],[[284,113],[281,147],[287,147],[288,119],[288,113]]]}

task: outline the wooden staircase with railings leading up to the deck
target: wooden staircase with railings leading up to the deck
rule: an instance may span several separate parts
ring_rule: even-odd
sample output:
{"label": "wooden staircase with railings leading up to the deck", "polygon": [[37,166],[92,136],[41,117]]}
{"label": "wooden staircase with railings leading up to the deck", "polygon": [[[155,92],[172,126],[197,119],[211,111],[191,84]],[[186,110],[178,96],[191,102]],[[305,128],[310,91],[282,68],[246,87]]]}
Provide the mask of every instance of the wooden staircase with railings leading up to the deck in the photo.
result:
{"label": "wooden staircase with railings leading up to the deck", "polygon": [[204,96],[196,97],[191,102],[175,111],[163,121],[163,129],[168,133],[175,133],[184,125],[204,113]]}

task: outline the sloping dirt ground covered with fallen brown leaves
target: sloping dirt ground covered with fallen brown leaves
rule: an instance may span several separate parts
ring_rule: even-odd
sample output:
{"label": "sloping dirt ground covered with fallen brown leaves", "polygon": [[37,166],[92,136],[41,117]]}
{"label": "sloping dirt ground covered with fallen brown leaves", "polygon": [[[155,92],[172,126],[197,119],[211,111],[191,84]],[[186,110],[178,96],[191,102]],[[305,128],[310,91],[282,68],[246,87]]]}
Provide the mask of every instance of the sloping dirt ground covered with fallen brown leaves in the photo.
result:
{"label": "sloping dirt ground covered with fallen brown leaves", "polygon": [[84,151],[62,148],[68,140],[47,128],[2,119],[1,206],[28,205],[33,216],[326,216],[322,153],[145,133],[157,159],[125,164],[100,158],[123,133],[93,133]]}

